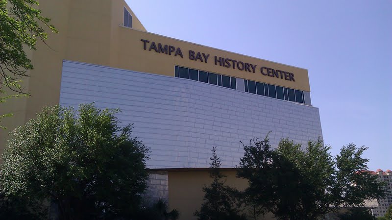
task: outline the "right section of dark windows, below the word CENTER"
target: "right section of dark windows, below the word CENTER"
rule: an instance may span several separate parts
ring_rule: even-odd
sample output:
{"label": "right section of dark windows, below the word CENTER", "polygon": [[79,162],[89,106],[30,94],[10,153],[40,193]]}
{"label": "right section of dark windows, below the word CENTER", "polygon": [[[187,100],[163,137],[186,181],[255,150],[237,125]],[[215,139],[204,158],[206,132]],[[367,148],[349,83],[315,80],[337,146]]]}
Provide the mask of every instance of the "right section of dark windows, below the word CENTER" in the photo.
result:
{"label": "right section of dark windows, below the word CENTER", "polygon": [[251,80],[244,80],[245,92],[253,93],[261,96],[271,98],[278,98],[282,100],[295,101],[298,103],[305,103],[303,91],[290,89],[282,86],[270,85],[262,82],[255,82]]}

